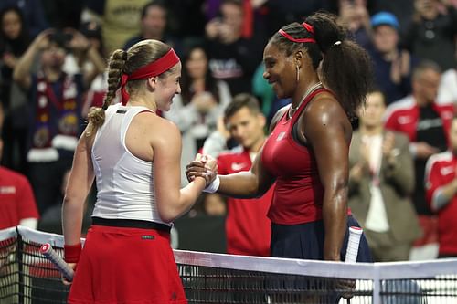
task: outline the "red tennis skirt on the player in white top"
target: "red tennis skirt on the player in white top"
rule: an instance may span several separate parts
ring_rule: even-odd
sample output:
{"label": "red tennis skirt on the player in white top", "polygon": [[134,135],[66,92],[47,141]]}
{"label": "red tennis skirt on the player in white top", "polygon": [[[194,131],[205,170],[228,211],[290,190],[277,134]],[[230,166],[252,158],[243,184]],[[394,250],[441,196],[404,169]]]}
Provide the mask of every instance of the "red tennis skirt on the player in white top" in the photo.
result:
{"label": "red tennis skirt on the player in white top", "polygon": [[68,303],[187,303],[170,235],[153,229],[92,225]]}

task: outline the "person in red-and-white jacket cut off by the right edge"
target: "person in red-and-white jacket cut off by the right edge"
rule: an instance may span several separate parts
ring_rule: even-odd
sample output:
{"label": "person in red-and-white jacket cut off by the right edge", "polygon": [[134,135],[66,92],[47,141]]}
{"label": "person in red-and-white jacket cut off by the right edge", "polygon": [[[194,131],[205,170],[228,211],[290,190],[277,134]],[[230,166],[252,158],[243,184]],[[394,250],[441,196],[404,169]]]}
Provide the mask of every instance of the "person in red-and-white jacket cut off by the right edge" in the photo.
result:
{"label": "person in red-and-white jacket cut off by the right edge", "polygon": [[438,214],[439,257],[457,257],[457,117],[449,134],[451,148],[427,162],[425,186],[430,209]]}

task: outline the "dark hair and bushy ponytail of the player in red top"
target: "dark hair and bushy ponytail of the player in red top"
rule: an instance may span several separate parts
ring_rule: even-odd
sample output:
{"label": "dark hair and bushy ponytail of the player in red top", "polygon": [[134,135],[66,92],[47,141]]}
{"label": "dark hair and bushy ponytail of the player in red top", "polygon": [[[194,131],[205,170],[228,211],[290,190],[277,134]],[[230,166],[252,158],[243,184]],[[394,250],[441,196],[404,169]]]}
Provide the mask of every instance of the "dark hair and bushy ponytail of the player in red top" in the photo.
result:
{"label": "dark hair and bushy ponytail of the player in red top", "polygon": [[336,23],[336,16],[329,13],[315,13],[305,22],[313,26],[314,33],[302,24],[294,22],[282,30],[293,38],[314,38],[313,42],[297,43],[276,33],[273,42],[286,56],[299,49],[306,49],[317,71],[322,61],[321,80],[331,89],[349,118],[356,117],[356,110],[364,104],[372,84],[372,65],[367,52],[346,38],[343,26]]}

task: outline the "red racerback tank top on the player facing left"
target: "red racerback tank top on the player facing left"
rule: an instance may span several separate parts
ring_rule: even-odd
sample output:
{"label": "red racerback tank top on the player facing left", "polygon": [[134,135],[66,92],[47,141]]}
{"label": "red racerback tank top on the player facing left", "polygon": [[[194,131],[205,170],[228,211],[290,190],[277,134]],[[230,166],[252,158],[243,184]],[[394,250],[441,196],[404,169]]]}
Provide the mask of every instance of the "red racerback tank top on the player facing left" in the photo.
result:
{"label": "red racerback tank top on the player facing left", "polygon": [[293,125],[306,104],[320,92],[316,89],[303,100],[297,112],[288,118],[287,111],[278,121],[263,147],[262,164],[276,177],[273,201],[269,210],[271,222],[297,225],[322,219],[324,186],[311,147],[292,138]]}

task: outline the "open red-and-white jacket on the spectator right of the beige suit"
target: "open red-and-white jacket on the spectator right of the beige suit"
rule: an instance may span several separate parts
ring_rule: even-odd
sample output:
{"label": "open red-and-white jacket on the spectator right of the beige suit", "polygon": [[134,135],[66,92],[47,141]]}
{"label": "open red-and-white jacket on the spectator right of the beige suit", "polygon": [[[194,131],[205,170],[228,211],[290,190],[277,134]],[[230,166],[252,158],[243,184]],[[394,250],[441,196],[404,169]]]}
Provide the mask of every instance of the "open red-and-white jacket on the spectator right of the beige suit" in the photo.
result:
{"label": "open red-and-white jacket on the spectator right of the beige suit", "polygon": [[[448,134],[453,117],[453,105],[438,105],[434,103],[432,109],[441,117],[442,127]],[[388,130],[400,131],[408,135],[410,142],[417,142],[420,108],[412,96],[396,101],[388,106],[385,114],[385,127]],[[449,139],[448,139],[449,141]]]}

